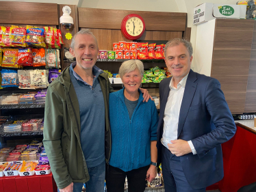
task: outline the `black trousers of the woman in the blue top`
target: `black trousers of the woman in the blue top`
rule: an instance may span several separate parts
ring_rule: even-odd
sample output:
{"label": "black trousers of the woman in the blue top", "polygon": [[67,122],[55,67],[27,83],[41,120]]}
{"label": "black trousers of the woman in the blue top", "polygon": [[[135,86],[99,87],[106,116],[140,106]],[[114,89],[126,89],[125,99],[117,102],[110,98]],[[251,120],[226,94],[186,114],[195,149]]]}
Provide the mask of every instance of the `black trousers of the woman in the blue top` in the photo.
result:
{"label": "black trousers of the woman in the blue top", "polygon": [[125,176],[128,181],[128,192],[144,192],[146,187],[146,172],[149,165],[124,172],[122,169],[106,165],[107,192],[125,191]]}

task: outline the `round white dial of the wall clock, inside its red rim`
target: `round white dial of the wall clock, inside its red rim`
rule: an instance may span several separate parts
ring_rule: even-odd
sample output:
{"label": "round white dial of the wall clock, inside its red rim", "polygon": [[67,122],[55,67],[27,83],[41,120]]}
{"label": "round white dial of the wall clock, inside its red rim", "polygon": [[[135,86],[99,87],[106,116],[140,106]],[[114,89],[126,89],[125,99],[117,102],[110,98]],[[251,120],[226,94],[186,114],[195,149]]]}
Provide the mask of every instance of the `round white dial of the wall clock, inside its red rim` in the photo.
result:
{"label": "round white dial of the wall clock, inside its red rim", "polygon": [[142,20],[136,16],[129,18],[125,23],[125,29],[127,33],[133,37],[140,36],[140,33],[143,32],[143,28],[144,26]]}

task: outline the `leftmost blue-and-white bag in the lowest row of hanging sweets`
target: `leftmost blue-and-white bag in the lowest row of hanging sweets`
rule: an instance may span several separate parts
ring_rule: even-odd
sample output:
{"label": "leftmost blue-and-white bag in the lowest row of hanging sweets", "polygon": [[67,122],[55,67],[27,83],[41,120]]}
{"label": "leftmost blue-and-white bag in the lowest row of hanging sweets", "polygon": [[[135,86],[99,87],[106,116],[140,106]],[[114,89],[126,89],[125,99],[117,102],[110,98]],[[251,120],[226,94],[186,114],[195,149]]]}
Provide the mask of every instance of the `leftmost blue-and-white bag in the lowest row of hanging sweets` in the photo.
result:
{"label": "leftmost blue-and-white bag in the lowest row of hanging sweets", "polygon": [[1,70],[2,87],[18,87],[18,75],[16,70]]}

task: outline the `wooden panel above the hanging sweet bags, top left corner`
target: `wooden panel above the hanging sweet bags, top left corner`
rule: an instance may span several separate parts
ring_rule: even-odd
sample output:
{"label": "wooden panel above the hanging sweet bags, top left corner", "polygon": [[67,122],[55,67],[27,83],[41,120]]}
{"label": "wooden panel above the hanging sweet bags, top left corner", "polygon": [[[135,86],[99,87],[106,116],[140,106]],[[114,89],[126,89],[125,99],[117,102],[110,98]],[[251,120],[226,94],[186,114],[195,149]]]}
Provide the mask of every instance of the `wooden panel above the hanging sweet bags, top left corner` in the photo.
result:
{"label": "wooden panel above the hanging sweet bags, top left corner", "polygon": [[59,25],[57,4],[0,1],[0,23]]}

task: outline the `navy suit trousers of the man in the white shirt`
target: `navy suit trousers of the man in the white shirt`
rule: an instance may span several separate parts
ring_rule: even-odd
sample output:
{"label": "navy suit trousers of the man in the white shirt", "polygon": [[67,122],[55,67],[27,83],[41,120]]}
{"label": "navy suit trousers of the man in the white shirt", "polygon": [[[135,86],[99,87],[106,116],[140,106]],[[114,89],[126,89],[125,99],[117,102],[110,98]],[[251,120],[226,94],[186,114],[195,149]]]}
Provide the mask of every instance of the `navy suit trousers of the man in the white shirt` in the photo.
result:
{"label": "navy suit trousers of the man in the white shirt", "polygon": [[166,147],[162,147],[164,190],[166,192],[205,192],[205,188],[192,189],[190,187],[179,159],[179,157],[172,154]]}

